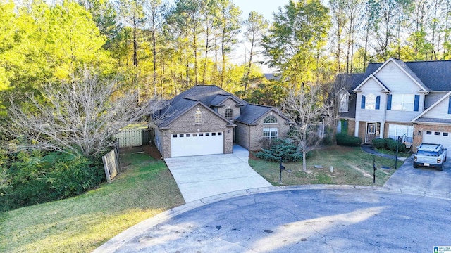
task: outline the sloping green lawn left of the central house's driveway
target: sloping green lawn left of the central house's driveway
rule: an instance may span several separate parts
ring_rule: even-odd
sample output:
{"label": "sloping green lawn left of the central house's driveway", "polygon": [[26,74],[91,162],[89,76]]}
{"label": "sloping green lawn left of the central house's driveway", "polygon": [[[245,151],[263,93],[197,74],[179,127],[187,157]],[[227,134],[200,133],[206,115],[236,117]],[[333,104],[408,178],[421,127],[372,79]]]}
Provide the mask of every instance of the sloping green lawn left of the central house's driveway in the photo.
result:
{"label": "sloping green lawn left of the central house's driveway", "polygon": [[184,204],[163,161],[129,153],[121,163],[123,173],[111,184],[0,214],[0,252],[91,252],[130,226]]}

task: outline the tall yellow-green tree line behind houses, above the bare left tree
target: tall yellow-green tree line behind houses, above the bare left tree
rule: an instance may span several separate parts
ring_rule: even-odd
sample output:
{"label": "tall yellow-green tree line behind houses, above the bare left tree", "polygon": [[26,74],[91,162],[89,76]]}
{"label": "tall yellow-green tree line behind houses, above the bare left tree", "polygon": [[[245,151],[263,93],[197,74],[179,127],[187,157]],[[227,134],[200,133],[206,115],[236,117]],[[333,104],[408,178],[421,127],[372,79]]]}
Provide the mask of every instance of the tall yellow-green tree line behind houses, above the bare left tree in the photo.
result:
{"label": "tall yellow-green tree line behind houses, above the bare left tree", "polygon": [[[249,84],[264,82],[257,53],[299,84],[389,57],[451,57],[449,0],[290,1],[274,10],[272,24],[257,12],[242,20],[232,0],[2,1],[0,13],[2,91],[39,91],[94,66],[106,77],[121,74],[140,100],[196,84],[245,96]],[[239,64],[238,44],[247,44]]]}

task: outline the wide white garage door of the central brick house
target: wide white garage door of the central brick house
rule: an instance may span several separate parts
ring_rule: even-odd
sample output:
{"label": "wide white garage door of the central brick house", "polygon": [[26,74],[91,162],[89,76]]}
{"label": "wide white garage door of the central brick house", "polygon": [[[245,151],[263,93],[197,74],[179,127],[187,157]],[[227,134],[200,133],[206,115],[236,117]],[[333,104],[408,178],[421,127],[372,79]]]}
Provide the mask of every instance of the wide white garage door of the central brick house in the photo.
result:
{"label": "wide white garage door of the central brick house", "polygon": [[223,153],[223,132],[184,133],[171,136],[171,157]]}

